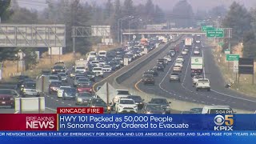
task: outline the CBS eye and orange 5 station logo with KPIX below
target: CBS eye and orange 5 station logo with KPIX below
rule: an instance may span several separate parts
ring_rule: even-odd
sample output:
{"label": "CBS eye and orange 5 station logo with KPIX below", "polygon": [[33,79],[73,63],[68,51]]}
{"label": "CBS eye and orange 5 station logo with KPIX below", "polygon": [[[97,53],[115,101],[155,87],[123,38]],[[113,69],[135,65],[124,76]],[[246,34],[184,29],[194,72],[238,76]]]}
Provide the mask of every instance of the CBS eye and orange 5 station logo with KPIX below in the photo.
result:
{"label": "CBS eye and orange 5 station logo with KPIX below", "polygon": [[233,130],[234,118],[233,115],[217,115],[214,118],[214,130]]}

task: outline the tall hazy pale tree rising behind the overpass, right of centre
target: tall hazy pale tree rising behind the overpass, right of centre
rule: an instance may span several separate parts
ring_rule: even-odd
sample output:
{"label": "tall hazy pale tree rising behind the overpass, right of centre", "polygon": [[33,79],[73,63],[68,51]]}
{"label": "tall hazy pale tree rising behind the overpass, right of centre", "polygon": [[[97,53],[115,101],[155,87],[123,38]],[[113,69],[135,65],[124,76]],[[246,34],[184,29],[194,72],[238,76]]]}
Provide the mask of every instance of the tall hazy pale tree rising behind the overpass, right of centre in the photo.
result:
{"label": "tall hazy pale tree rising behind the overpass, right of centre", "polygon": [[192,6],[186,0],[179,1],[170,14],[170,19],[173,19],[176,26],[190,27],[194,26],[194,12]]}

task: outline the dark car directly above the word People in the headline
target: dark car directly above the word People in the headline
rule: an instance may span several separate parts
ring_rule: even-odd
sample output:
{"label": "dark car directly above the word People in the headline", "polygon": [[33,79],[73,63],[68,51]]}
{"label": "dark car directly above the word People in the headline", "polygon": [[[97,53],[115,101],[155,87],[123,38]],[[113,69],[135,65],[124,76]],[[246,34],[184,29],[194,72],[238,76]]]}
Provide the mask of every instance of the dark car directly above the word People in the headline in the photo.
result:
{"label": "dark car directly above the word People in the headline", "polygon": [[154,103],[147,103],[142,108],[142,114],[166,114],[165,110],[162,110],[162,106]]}

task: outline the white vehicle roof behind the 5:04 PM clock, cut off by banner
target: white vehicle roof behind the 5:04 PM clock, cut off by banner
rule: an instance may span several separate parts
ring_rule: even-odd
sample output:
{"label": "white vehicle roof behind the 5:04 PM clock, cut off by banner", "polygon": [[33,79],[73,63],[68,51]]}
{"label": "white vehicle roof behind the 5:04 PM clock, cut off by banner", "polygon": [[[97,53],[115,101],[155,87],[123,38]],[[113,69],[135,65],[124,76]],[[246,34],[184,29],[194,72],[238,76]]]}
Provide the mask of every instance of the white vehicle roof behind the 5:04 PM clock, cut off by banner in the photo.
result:
{"label": "white vehicle roof behind the 5:04 PM clock, cut off by banner", "polygon": [[234,114],[230,106],[204,106],[202,114]]}

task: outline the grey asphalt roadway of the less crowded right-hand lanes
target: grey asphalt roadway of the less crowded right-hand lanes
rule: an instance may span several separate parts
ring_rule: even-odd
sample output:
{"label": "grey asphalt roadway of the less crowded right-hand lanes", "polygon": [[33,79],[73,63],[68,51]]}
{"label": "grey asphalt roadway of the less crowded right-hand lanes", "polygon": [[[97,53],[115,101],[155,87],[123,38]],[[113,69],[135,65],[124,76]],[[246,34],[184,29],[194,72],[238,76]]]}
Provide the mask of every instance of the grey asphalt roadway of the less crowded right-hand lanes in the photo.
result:
{"label": "grey asphalt roadway of the less crowded right-hand lanes", "polygon": [[[210,92],[196,91],[194,86],[192,86],[190,57],[194,56],[193,50],[190,50],[190,53],[184,56],[185,62],[183,64],[181,82],[169,82],[169,75],[172,72],[174,61],[166,66],[165,71],[155,78],[156,84],[154,86],[145,86],[141,81],[138,81],[138,79],[142,78],[143,71],[149,70],[151,67],[155,66],[156,60],[158,58],[163,58],[166,55],[166,53],[163,52],[162,54],[159,54],[157,58],[152,59],[146,66],[143,66],[138,73],[134,74],[133,78],[129,78],[126,82],[122,82],[122,85],[130,86],[131,84],[134,85],[137,83],[138,90],[142,90],[148,94],[174,98],[186,102],[202,103],[205,105],[227,105],[241,110],[256,110],[256,98],[238,94],[233,90],[224,87],[226,83],[218,70],[218,66],[215,65],[214,56],[211,52],[212,47],[203,46],[202,44],[198,45],[198,47],[202,50],[200,56],[204,58],[205,69],[203,75],[205,78],[210,79]],[[182,48],[182,44],[180,45],[180,48]],[[173,60],[174,59],[175,58],[173,58]]]}

